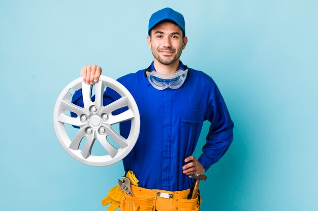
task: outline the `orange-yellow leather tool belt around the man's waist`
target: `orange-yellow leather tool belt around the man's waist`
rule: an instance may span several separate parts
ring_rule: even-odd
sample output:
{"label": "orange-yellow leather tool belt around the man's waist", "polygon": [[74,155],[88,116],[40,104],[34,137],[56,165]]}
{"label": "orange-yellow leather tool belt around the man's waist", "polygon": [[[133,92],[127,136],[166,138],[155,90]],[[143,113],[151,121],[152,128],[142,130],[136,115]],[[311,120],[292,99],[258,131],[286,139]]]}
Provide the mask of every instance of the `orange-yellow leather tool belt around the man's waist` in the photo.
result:
{"label": "orange-yellow leather tool belt around the man's waist", "polygon": [[195,211],[200,207],[198,196],[195,199],[186,199],[190,189],[166,191],[135,185],[131,185],[131,189],[134,196],[123,192],[119,211]]}

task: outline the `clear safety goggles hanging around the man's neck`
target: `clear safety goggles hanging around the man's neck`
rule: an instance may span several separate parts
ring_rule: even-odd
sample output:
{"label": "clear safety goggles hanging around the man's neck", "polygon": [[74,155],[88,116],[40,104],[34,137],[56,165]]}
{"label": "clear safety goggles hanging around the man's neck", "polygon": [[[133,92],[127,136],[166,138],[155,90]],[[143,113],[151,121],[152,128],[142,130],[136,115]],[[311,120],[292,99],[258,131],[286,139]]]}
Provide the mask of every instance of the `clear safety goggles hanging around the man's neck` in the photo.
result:
{"label": "clear safety goggles hanging around the man's neck", "polygon": [[151,70],[147,71],[146,75],[152,87],[154,87],[155,89],[164,90],[169,87],[170,89],[175,90],[183,85],[187,76],[187,72],[187,69],[179,69],[172,74],[162,74],[158,73],[155,70]]}

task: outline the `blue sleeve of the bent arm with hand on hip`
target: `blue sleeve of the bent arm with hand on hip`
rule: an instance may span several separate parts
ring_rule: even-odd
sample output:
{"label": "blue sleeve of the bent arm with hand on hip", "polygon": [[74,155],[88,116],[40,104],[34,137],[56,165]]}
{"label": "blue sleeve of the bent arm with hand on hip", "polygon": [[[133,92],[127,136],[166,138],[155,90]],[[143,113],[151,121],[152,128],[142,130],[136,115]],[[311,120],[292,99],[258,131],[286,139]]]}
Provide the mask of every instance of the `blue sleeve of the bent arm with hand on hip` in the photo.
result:
{"label": "blue sleeve of the bent arm with hand on hip", "polygon": [[198,161],[207,171],[226,153],[233,141],[234,123],[215,83],[208,97],[205,119],[210,121],[211,125]]}

